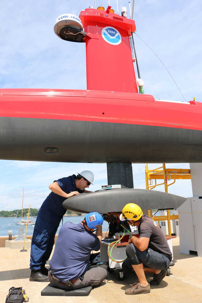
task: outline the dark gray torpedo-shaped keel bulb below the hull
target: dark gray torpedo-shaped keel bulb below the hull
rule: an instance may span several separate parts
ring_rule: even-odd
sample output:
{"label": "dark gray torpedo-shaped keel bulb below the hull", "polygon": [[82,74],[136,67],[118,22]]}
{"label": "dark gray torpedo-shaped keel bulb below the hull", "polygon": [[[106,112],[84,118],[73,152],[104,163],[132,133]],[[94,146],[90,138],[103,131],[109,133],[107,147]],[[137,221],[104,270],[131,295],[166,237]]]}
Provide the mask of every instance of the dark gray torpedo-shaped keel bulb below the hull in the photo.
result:
{"label": "dark gray torpedo-shaped keel bulb below the hull", "polygon": [[137,188],[118,188],[94,191],[72,196],[63,202],[63,207],[80,213],[97,211],[105,214],[122,211],[127,203],[135,203],[142,209],[178,208],[186,198],[161,191]]}

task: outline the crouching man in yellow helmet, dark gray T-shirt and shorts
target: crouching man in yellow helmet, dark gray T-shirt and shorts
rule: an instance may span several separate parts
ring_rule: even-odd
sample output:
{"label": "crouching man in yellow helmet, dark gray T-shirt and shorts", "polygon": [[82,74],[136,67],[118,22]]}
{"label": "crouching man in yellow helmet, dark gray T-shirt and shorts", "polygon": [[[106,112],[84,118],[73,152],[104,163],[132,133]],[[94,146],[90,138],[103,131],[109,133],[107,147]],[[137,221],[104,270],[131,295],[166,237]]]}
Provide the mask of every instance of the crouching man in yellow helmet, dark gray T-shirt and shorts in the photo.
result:
{"label": "crouching man in yellow helmet, dark gray T-shirt and shorts", "polygon": [[[120,220],[127,220],[130,225],[137,226],[139,232],[139,238],[130,236],[128,240],[130,244],[126,248],[128,259],[122,264],[125,270],[132,266],[139,282],[126,289],[125,294],[148,293],[151,290],[150,285],[159,285],[166,276],[166,269],[172,260],[171,250],[161,228],[152,218],[143,215],[137,204],[125,205]],[[154,273],[150,285],[145,278],[145,272]]]}

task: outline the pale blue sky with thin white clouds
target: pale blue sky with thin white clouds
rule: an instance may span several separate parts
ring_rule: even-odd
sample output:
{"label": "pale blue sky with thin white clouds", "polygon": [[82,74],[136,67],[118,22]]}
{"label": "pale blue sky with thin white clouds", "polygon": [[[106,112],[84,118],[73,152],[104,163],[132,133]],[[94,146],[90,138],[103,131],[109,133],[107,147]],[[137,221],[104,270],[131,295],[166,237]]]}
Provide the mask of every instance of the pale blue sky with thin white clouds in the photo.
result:
{"label": "pale blue sky with thin white clouds", "polygon": [[[108,0],[96,0],[96,6]],[[128,1],[118,1],[119,11]],[[79,15],[94,7],[91,1],[35,0],[1,3],[0,87],[86,89],[85,44],[59,39],[53,27],[63,13]],[[117,12],[116,0],[110,5]],[[131,1],[132,5],[132,1]],[[134,20],[137,35],[167,67],[186,101],[201,102],[201,1],[136,0]],[[171,76],[154,53],[134,35],[144,91],[155,99],[184,101]],[[120,65],[124,58],[120,58]],[[137,75],[136,75],[137,76]],[[166,113],[165,113],[166,114]],[[160,117],[161,118],[161,117]],[[161,164],[149,165],[149,168]],[[169,168],[189,168],[189,164],[167,164]],[[50,163],[0,160],[0,210],[24,205],[39,208],[49,193],[48,185],[57,178],[84,169],[94,172],[91,190],[107,184],[106,164]],[[144,165],[134,164],[134,187],[145,188]],[[163,188],[160,188],[163,190]],[[169,192],[192,196],[191,181],[176,181]]]}

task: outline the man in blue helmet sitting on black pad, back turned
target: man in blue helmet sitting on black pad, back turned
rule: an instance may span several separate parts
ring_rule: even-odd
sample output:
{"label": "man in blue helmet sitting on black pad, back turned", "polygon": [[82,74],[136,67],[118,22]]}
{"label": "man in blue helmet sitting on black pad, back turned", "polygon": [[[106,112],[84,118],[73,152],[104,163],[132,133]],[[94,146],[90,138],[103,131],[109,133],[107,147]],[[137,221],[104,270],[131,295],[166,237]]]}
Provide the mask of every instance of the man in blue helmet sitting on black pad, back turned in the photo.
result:
{"label": "man in blue helmet sitting on black pad, back turned", "polygon": [[81,223],[67,222],[61,227],[49,263],[48,278],[52,285],[62,289],[78,289],[99,285],[107,277],[106,269],[88,267],[91,250],[100,249],[102,223],[102,216],[91,212]]}

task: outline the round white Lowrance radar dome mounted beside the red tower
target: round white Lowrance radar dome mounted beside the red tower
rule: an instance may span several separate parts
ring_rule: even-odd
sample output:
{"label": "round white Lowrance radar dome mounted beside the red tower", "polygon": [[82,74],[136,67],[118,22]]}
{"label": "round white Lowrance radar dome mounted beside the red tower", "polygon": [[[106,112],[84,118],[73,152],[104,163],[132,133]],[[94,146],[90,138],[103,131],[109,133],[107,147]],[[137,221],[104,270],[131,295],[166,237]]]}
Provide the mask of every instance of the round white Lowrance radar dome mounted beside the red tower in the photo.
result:
{"label": "round white Lowrance radar dome mounted beside the red tower", "polygon": [[83,42],[86,36],[81,19],[73,14],[60,15],[55,20],[54,32],[59,38],[71,42]]}

